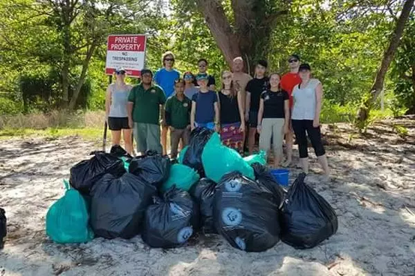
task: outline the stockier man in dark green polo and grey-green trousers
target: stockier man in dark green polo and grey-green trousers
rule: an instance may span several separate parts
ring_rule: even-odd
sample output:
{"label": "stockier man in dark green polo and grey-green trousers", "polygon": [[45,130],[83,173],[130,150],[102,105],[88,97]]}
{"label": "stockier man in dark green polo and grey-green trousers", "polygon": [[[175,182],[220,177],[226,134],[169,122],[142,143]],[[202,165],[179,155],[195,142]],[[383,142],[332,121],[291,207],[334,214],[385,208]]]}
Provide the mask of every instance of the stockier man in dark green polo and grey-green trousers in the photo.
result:
{"label": "stockier man in dark green polo and grey-green trousers", "polygon": [[144,154],[147,150],[156,150],[162,153],[160,144],[160,106],[166,96],[160,86],[153,85],[153,72],[141,70],[141,82],[134,86],[128,95],[128,121],[133,127],[136,139],[137,152]]}

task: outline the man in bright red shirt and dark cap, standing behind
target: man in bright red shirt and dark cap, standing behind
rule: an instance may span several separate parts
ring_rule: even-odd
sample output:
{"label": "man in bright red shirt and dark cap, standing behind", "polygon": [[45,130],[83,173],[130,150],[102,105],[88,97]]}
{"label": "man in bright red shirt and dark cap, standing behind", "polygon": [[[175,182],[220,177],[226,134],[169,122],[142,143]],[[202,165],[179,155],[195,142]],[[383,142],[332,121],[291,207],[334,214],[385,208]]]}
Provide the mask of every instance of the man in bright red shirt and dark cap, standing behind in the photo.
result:
{"label": "man in bright red shirt and dark cap, standing behind", "polygon": [[[288,57],[288,66],[290,68],[290,72],[287,72],[281,78],[280,86],[283,90],[286,90],[289,95],[290,99],[290,110],[293,109],[293,89],[297,84],[301,83],[301,78],[298,75],[298,68],[299,68],[299,56],[298,55],[291,55]],[[291,113],[291,112],[290,112]],[[284,166],[289,166],[291,161],[293,160],[293,144],[294,144],[294,132],[293,127],[291,126],[291,115],[290,115],[290,127],[288,128],[288,133],[286,134],[286,153],[287,153],[287,160]]]}

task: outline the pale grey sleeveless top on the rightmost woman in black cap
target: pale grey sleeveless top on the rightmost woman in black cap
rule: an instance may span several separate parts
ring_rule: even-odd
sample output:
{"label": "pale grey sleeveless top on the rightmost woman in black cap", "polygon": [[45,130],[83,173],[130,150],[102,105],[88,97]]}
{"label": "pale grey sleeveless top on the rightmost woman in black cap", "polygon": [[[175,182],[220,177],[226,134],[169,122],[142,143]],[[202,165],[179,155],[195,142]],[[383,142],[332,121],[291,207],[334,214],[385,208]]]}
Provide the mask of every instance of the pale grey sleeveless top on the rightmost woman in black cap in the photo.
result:
{"label": "pale grey sleeveless top on the rightmost woman in black cap", "polygon": [[291,119],[294,120],[313,120],[315,116],[315,88],[320,81],[318,79],[310,79],[303,88],[297,84],[293,89],[294,107]]}

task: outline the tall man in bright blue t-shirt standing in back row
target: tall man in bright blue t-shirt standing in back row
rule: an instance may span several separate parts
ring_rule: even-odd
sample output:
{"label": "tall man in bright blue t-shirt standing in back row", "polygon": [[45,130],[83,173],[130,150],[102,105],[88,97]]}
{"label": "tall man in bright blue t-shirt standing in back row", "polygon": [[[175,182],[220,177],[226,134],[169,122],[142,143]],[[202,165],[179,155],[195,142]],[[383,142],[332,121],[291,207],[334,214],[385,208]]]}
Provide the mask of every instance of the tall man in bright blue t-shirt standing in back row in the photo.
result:
{"label": "tall man in bright blue t-shirt standing in back row", "polygon": [[[158,69],[154,74],[154,81],[165,92],[166,98],[170,97],[174,93],[174,81],[180,78],[180,72],[174,69],[174,55],[172,52],[165,52],[161,58],[163,67]],[[163,155],[167,155],[167,131],[169,128],[165,124],[164,116],[162,119],[162,132],[161,132],[161,144],[163,146]]]}

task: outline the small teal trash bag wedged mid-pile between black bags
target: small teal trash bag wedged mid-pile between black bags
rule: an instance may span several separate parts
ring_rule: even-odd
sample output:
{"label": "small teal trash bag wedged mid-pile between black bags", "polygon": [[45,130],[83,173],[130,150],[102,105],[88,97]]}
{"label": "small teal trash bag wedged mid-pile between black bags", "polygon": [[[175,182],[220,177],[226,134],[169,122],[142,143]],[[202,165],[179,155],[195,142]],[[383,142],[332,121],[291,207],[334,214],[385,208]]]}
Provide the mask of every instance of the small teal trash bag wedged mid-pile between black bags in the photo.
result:
{"label": "small teal trash bag wedged mid-pile between black bags", "polygon": [[196,170],[182,164],[174,164],[170,167],[169,178],[163,183],[161,190],[164,193],[176,185],[176,188],[188,191],[200,178]]}

